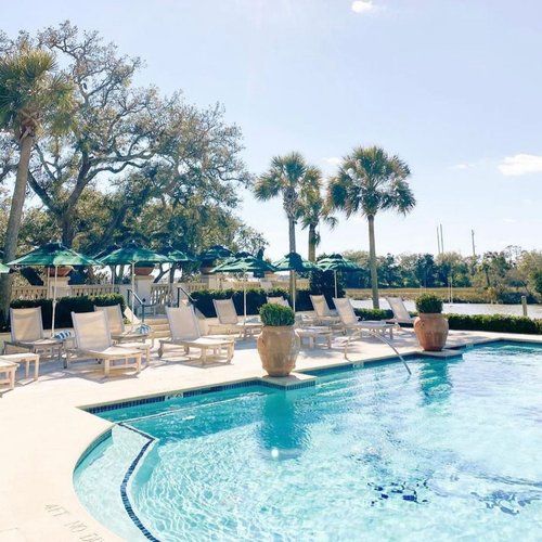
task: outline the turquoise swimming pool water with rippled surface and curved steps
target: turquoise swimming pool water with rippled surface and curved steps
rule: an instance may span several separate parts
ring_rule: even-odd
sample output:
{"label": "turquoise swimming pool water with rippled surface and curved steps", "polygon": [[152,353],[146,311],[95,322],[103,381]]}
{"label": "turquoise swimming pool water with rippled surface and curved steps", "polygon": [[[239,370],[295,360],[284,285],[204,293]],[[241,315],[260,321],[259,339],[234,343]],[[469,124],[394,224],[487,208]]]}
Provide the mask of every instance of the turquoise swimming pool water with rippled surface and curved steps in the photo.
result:
{"label": "turquoise swimming pool water with rippled surface and curved steps", "polygon": [[542,348],[409,364],[103,413],[77,492],[127,540],[541,540]]}

